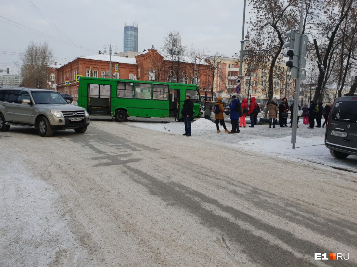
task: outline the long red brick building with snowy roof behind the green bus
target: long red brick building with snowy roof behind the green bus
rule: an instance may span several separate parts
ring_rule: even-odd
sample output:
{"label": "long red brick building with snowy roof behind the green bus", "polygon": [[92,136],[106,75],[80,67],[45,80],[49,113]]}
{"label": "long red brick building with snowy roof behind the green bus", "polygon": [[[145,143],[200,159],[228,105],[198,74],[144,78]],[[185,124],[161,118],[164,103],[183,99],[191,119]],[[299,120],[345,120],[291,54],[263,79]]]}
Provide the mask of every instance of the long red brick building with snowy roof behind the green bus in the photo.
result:
{"label": "long red brick building with snowy roof behind the green bus", "polygon": [[[197,85],[200,87],[201,95],[210,96],[210,65],[203,60],[196,63]],[[111,66],[110,66],[111,65]],[[117,66],[116,66],[117,65]],[[192,83],[193,80],[193,63],[172,62],[151,48],[135,56],[135,58],[110,56],[107,54],[98,54],[89,57],[79,57],[74,61],[67,63],[56,69],[49,69],[55,75],[57,83],[56,90],[60,93],[68,93],[77,99],[77,81],[76,75],[84,77],[109,77],[111,69],[112,78],[120,79],[137,79],[137,80],[156,80],[158,82],[176,82]],[[68,78],[69,85],[66,85]]]}

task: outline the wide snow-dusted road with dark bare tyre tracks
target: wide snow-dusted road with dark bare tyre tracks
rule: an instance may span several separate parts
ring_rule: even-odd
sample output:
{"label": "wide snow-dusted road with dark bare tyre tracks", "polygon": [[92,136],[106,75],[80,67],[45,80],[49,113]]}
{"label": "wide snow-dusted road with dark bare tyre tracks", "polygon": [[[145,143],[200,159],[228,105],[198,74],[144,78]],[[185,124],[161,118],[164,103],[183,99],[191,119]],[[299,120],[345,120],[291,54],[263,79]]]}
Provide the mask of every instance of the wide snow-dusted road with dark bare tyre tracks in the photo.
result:
{"label": "wide snow-dusted road with dark bare tyre tracks", "polygon": [[357,265],[356,157],[347,172],[166,126],[1,132],[0,266]]}

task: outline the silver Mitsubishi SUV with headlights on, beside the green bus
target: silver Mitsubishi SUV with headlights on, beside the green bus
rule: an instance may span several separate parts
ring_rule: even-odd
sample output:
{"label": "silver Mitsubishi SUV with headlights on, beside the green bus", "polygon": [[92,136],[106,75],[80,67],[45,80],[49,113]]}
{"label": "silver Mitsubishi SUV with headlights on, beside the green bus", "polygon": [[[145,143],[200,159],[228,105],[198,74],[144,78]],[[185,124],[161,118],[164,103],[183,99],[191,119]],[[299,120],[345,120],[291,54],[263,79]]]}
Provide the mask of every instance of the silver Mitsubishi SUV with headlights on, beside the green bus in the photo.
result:
{"label": "silver Mitsubishi SUV with headlights on, beside the green bus", "polygon": [[10,125],[37,129],[40,136],[51,136],[55,130],[87,130],[88,112],[70,105],[56,91],[39,88],[0,87],[0,132]]}

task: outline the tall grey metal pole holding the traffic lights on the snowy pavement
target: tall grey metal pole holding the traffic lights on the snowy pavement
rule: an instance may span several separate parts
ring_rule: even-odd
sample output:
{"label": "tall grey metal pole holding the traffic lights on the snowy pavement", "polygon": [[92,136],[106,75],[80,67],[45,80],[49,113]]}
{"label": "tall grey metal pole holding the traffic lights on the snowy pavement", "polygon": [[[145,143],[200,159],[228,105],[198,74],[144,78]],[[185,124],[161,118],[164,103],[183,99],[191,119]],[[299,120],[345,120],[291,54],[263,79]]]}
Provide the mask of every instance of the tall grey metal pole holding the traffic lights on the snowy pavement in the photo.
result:
{"label": "tall grey metal pole holding the traffic lights on the snowy pavement", "polygon": [[[304,7],[304,0],[301,0],[299,33],[302,33],[303,7]],[[300,38],[300,47],[302,47],[303,39],[304,38]],[[301,50],[302,49],[300,49],[300,55],[302,54]],[[302,58],[302,57],[300,57],[300,58]],[[298,115],[297,112],[299,110],[301,69],[302,69],[302,60],[300,60],[298,77],[295,80],[294,107],[293,107],[293,111],[292,111],[293,118],[292,118],[292,132],[291,132],[291,143],[292,143],[293,149],[295,149],[295,143],[296,143],[296,127],[297,127],[297,115]]]}

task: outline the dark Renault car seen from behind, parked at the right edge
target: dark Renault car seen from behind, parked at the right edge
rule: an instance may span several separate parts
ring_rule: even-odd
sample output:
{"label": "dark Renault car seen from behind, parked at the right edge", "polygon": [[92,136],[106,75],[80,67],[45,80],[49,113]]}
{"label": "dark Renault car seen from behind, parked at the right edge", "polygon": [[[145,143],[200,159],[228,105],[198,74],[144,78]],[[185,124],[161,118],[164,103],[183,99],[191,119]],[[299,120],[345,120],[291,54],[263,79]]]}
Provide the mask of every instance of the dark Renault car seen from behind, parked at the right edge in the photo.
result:
{"label": "dark Renault car seen from behind, parked at the right edge", "polygon": [[325,146],[335,158],[357,156],[357,94],[344,94],[333,103],[326,124]]}

